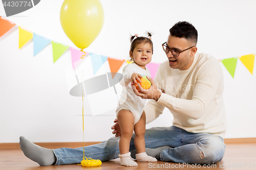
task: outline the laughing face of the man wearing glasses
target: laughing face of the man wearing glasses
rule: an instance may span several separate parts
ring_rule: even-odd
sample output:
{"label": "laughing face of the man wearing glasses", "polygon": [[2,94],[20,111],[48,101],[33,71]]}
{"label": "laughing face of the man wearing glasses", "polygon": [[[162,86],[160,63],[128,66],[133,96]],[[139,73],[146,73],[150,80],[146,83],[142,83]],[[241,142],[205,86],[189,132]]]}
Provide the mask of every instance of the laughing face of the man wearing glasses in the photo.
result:
{"label": "laughing face of the man wearing glasses", "polygon": [[[166,43],[170,49],[179,52],[194,45],[193,42],[190,42],[185,38],[179,38],[172,35],[168,36]],[[175,69],[187,70],[194,61],[194,55],[196,53],[194,53],[195,48],[197,47],[190,48],[189,50],[180,53],[178,57],[174,56],[170,51],[166,53],[166,56],[169,59],[169,66]]]}

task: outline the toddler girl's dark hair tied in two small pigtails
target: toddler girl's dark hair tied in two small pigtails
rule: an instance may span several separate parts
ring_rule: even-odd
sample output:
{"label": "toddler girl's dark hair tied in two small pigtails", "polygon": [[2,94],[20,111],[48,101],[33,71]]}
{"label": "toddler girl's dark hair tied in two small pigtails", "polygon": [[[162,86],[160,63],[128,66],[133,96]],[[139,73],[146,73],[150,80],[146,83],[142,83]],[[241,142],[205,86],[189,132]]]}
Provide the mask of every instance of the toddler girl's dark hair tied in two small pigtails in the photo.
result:
{"label": "toddler girl's dark hair tied in two small pigtails", "polygon": [[[147,35],[147,37],[151,37],[152,36],[152,33],[150,32],[147,32],[145,33]],[[132,36],[132,35],[131,35]],[[152,46],[152,54],[153,54],[153,42],[151,41],[151,39],[147,38],[147,37],[137,37],[137,36],[132,36],[130,38],[130,41],[131,41],[131,48],[130,48],[130,51],[134,51],[134,48],[136,47],[136,45],[140,44],[140,43],[149,43],[151,46]],[[135,39],[134,39],[135,38]]]}

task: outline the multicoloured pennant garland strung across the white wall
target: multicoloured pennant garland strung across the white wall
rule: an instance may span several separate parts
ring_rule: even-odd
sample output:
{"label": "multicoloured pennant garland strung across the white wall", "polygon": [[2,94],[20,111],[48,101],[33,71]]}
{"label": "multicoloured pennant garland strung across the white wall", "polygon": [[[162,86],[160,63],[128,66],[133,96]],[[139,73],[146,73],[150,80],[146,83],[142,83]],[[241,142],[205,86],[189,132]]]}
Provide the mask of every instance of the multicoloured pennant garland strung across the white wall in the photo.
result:
{"label": "multicoloured pennant garland strung across the white wall", "polygon": [[[7,33],[9,30],[11,30],[15,23],[12,23],[0,16],[0,37],[3,36],[5,33]],[[68,49],[71,51],[71,60],[72,60],[72,66],[75,69],[82,60],[81,56],[88,57],[91,56],[91,61],[93,65],[93,72],[96,74],[96,72],[99,70],[99,68],[103,65],[105,61],[109,61],[109,66],[112,74],[112,78],[115,77],[114,72],[118,72],[118,70],[121,68],[122,64],[125,60],[115,59],[111,57],[102,56],[99,54],[84,52],[84,55],[81,55],[80,50],[76,50],[73,47],[69,47],[65,44],[61,44],[58,42],[54,42],[50,39],[47,39],[45,37],[42,37],[40,35],[37,35],[35,33],[31,33],[30,31],[27,31],[23,28],[19,28],[19,49],[22,48],[26,43],[28,43],[31,39],[33,39],[34,42],[34,56],[36,56],[40,51],[42,51],[48,44],[52,44],[52,50],[53,50],[53,63],[56,62]],[[82,53],[83,54],[83,53]],[[253,72],[253,66],[254,66],[254,54],[249,54],[245,56],[239,57],[240,61],[245,65],[245,67],[249,70],[249,72],[252,74]],[[237,66],[237,59],[238,58],[228,58],[219,60],[223,63],[223,65],[228,70],[229,74],[234,78],[234,72],[236,71]],[[126,60],[127,64],[132,63],[132,61]],[[147,68],[151,71],[151,77],[154,79],[156,75],[157,68],[159,67],[160,63],[148,63]]]}

